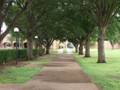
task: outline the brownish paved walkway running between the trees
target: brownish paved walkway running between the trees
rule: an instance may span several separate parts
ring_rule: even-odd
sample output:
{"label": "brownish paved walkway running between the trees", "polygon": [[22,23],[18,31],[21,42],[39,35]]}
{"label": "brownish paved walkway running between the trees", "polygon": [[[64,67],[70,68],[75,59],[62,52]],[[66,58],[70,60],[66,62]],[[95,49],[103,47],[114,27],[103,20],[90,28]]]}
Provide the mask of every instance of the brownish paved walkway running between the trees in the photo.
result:
{"label": "brownish paved walkway running between the trees", "polygon": [[71,55],[57,55],[26,84],[0,84],[0,90],[98,90]]}

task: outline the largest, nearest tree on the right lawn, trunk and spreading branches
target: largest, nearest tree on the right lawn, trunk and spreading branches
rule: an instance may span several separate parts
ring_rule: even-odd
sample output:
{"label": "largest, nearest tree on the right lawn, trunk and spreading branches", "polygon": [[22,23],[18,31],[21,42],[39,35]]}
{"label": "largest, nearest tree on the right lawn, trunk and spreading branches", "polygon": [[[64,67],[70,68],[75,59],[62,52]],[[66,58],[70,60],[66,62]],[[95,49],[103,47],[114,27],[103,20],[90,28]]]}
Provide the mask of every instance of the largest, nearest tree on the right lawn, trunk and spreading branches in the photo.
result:
{"label": "largest, nearest tree on the right lawn, trunk and spreading branches", "polygon": [[[98,63],[105,63],[104,39],[105,30],[111,18],[120,7],[119,0],[87,0],[91,6],[91,17],[98,26]],[[90,12],[89,12],[90,13]]]}

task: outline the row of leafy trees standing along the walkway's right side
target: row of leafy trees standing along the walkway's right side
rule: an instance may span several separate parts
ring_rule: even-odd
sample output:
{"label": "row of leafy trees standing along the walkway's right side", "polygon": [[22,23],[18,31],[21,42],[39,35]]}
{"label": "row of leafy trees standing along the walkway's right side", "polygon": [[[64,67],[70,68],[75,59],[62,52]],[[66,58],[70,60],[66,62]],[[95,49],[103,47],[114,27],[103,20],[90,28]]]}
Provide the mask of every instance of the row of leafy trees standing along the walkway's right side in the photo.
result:
{"label": "row of leafy trees standing along the walkway's right side", "polygon": [[85,57],[90,57],[90,41],[97,36],[98,63],[105,63],[104,40],[109,39],[114,47],[119,38],[120,1],[75,0],[69,1],[66,6],[68,26],[65,26],[72,33],[70,40],[73,44],[80,44],[79,54],[83,54],[85,43]]}

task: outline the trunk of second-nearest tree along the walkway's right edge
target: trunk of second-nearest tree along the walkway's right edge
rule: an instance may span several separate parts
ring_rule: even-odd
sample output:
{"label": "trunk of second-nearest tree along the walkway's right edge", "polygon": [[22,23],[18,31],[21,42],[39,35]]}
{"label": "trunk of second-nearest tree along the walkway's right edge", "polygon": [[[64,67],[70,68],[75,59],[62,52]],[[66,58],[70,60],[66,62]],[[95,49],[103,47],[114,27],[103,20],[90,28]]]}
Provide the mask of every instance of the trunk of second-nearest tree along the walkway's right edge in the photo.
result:
{"label": "trunk of second-nearest tree along the walkway's right edge", "polygon": [[86,35],[85,57],[90,57],[90,34],[89,33]]}

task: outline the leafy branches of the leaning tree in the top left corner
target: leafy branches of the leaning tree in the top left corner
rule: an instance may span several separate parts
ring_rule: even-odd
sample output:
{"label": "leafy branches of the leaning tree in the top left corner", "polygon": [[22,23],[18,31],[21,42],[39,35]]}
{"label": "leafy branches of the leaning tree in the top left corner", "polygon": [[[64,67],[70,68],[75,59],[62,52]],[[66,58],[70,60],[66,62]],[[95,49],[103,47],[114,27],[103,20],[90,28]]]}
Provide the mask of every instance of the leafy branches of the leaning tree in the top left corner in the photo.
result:
{"label": "leafy branches of the leaning tree in the top left corner", "polygon": [[2,0],[0,1],[0,33],[2,31],[2,24],[5,22],[7,28],[5,32],[0,35],[0,42],[4,37],[15,27],[16,21],[20,15],[27,9],[31,0]]}

